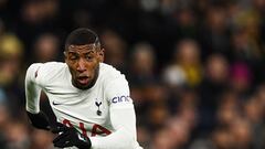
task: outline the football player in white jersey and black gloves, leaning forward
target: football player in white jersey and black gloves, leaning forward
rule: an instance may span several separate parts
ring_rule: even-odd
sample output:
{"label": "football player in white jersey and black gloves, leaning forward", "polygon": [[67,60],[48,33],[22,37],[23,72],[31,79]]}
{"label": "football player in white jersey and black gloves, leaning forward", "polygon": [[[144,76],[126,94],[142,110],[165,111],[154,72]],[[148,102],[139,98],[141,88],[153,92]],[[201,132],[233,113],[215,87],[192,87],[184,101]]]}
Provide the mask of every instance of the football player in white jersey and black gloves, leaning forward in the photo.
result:
{"label": "football player in white jersey and black gloves, leaning forward", "polygon": [[[98,35],[85,28],[65,41],[65,63],[32,64],[25,75],[26,114],[35,128],[59,134],[59,148],[141,149],[128,82],[103,63]],[[40,94],[47,97],[57,125],[52,128],[40,110]]]}

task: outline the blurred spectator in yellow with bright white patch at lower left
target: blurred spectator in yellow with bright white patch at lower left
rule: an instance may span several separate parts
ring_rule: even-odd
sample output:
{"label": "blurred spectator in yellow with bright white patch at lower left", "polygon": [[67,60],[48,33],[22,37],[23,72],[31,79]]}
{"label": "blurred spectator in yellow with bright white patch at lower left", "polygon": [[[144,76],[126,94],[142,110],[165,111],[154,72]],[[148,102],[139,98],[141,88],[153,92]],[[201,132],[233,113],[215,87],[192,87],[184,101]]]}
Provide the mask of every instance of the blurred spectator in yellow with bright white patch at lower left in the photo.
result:
{"label": "blurred spectator in yellow with bright white patch at lower left", "polygon": [[193,40],[182,40],[178,43],[171,65],[163,74],[169,85],[195,87],[202,79],[200,49]]}

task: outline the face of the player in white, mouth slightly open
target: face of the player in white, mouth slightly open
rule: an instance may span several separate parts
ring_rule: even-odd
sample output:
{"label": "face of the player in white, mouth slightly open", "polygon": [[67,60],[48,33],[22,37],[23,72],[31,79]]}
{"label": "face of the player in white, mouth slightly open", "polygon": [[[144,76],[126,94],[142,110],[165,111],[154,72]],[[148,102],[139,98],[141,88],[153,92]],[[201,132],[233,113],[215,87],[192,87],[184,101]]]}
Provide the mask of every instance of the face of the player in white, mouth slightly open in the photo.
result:
{"label": "face of the player in white, mouth slightly open", "polygon": [[91,88],[98,75],[104,50],[95,44],[70,45],[65,52],[65,63],[72,74],[72,83],[80,89]]}

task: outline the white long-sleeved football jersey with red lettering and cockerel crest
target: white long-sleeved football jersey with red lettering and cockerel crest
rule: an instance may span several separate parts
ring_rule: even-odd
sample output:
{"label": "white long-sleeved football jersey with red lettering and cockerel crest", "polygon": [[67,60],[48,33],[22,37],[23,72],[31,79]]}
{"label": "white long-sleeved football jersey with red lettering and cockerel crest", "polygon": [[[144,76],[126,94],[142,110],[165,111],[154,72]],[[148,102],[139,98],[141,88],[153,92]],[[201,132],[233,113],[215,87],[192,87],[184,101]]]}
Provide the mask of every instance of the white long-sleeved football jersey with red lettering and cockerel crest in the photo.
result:
{"label": "white long-sleeved football jersey with red lettering and cockerel crest", "polygon": [[[57,121],[75,127],[81,134],[89,137],[92,148],[117,148],[119,143],[125,143],[120,139],[123,137],[132,137],[134,142],[129,142],[131,146],[128,146],[131,149],[140,148],[136,141],[135,109],[128,82],[113,66],[100,63],[95,85],[83,91],[73,86],[65,63],[35,63],[28,68],[25,78],[28,111],[40,111],[41,89],[47,95]],[[125,128],[121,128],[124,126],[119,125],[119,120],[124,123]],[[131,136],[126,136],[127,132],[131,132]],[[103,141],[110,145],[105,147],[100,145]],[[110,141],[117,141],[117,145],[112,145],[114,142]]]}

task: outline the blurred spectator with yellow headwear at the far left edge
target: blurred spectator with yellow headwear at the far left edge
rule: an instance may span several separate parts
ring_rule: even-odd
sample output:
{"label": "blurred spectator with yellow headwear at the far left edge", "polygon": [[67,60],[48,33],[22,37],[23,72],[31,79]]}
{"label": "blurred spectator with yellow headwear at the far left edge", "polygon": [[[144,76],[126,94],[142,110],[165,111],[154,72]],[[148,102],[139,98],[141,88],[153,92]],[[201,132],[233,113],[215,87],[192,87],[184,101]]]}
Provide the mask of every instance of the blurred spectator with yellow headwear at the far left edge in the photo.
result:
{"label": "blurred spectator with yellow headwear at the far left edge", "polygon": [[[0,91],[14,115],[21,115],[23,83],[21,83],[23,44],[14,34],[0,38]],[[6,97],[4,97],[6,96]]]}

